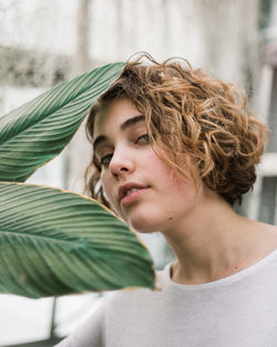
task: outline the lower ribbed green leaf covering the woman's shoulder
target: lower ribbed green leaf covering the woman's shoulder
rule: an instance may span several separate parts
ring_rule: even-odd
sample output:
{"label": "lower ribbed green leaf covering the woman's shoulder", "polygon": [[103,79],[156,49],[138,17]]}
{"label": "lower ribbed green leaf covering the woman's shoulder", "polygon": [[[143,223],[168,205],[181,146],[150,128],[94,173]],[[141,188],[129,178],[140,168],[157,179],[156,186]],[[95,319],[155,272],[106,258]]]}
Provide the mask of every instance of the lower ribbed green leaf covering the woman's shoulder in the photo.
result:
{"label": "lower ribbed green leaf covering the woman's shoulder", "polygon": [[0,292],[32,298],[155,287],[136,234],[98,202],[71,192],[0,183]]}

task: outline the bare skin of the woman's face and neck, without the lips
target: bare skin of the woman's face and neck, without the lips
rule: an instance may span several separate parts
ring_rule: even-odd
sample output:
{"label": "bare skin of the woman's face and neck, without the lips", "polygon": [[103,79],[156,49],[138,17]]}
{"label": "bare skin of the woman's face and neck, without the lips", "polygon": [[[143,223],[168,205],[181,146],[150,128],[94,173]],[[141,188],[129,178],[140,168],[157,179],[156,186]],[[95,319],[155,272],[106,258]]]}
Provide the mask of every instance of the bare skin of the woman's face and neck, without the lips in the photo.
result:
{"label": "bare skin of the woman's face and neck, without the lips", "polygon": [[[114,101],[94,123],[101,182],[113,210],[134,229],[161,232],[177,261],[172,279],[199,284],[232,275],[277,247],[275,226],[249,221],[202,182],[174,172],[152,149],[143,120],[122,129],[140,112],[126,99]],[[119,200],[125,183],[146,187],[129,204]]]}

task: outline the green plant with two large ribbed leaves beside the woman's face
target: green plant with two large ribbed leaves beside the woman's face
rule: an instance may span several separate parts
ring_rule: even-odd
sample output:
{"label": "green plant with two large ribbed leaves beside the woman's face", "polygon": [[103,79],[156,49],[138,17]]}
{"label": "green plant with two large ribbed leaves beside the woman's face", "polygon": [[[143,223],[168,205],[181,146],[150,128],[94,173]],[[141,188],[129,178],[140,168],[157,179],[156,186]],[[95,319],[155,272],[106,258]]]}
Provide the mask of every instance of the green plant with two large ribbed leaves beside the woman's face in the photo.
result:
{"label": "green plant with two large ribbed leaves beside the woman's face", "polygon": [[123,68],[94,69],[0,118],[1,293],[155,287],[147,249],[111,211],[73,192],[19,183],[64,149]]}

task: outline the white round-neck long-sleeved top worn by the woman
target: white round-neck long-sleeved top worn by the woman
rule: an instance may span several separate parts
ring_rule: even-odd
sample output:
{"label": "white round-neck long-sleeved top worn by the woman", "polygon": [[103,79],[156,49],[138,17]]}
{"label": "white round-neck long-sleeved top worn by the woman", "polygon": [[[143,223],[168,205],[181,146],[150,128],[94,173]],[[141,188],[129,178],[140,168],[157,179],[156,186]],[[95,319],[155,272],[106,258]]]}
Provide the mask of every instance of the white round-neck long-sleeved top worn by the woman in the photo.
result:
{"label": "white round-neck long-sleeved top worn by the woman", "polygon": [[[277,249],[202,285],[158,272],[161,292],[119,290],[59,347],[276,347]],[[57,347],[58,347],[57,346]]]}

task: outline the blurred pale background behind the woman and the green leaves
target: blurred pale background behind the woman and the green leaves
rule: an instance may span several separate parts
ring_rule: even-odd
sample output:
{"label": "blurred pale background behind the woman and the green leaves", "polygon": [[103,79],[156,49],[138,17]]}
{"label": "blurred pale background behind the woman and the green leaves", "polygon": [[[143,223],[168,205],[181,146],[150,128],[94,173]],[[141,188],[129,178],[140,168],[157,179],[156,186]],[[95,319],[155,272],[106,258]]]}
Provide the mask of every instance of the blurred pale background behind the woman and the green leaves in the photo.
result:
{"label": "blurred pale background behind the woman and the green leaves", "polygon": [[[184,57],[244,86],[271,129],[254,192],[238,212],[277,224],[277,0],[0,0],[0,116],[53,85],[137,51]],[[83,126],[29,182],[83,190],[91,155]],[[157,268],[172,259],[158,234],[144,236]],[[0,346],[53,346],[101,295],[27,299],[0,295]]]}

